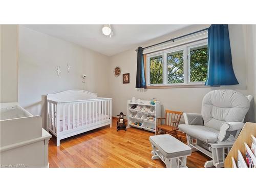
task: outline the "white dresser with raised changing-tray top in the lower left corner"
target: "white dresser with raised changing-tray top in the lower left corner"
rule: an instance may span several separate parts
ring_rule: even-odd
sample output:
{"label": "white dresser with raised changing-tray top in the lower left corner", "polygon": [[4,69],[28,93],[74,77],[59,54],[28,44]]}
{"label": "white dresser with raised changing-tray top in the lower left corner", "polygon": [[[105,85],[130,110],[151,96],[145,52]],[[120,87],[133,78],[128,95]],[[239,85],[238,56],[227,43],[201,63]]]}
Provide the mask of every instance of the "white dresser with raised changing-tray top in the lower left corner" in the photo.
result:
{"label": "white dresser with raised changing-tray top in the lower left corner", "polygon": [[52,137],[18,103],[0,103],[1,167],[49,167],[48,142]]}

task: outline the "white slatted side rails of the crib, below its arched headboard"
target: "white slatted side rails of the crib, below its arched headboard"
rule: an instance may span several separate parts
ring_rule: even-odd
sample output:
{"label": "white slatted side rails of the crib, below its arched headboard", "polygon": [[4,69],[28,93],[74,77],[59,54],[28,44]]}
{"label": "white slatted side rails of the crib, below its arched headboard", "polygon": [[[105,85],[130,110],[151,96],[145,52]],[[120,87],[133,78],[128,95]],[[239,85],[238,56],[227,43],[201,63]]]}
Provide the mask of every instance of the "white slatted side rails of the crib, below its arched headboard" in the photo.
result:
{"label": "white slatted side rails of the crib, below its arched headboard", "polygon": [[111,122],[111,98],[97,98],[72,102],[47,100],[47,126],[56,136],[81,127],[104,121]]}

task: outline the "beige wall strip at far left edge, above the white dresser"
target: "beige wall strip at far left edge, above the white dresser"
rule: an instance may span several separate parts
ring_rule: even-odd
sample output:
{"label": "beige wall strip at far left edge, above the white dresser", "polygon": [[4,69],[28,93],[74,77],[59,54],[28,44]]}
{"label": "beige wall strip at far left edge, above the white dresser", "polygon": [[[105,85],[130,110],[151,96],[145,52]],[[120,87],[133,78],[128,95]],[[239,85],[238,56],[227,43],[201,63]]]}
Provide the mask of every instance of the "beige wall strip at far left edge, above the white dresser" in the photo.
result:
{"label": "beige wall strip at far left edge, above the white dresser", "polygon": [[0,102],[18,101],[18,25],[0,25]]}

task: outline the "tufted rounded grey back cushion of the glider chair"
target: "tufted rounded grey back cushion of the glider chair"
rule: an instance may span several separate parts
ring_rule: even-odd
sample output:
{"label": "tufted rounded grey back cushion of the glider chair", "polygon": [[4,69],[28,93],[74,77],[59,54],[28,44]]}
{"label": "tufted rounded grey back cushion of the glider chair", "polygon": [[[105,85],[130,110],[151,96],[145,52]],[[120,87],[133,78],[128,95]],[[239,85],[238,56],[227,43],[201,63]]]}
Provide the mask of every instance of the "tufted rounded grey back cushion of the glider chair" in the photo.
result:
{"label": "tufted rounded grey back cushion of the glider chair", "polygon": [[220,131],[222,123],[243,121],[249,106],[246,96],[237,91],[210,91],[202,101],[204,125]]}

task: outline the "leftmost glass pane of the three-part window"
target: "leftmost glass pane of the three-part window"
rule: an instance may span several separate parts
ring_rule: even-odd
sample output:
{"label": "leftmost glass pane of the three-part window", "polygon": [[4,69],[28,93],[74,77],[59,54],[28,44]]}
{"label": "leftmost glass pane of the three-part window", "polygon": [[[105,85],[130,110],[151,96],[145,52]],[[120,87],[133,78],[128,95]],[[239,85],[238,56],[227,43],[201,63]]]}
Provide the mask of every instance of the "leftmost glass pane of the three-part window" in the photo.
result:
{"label": "leftmost glass pane of the three-part window", "polygon": [[150,84],[163,83],[163,56],[150,58]]}

